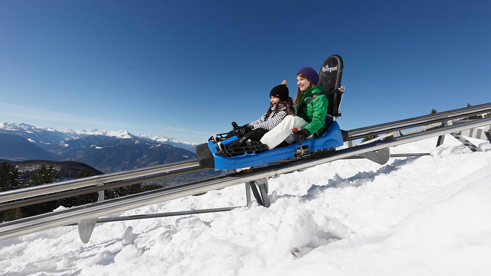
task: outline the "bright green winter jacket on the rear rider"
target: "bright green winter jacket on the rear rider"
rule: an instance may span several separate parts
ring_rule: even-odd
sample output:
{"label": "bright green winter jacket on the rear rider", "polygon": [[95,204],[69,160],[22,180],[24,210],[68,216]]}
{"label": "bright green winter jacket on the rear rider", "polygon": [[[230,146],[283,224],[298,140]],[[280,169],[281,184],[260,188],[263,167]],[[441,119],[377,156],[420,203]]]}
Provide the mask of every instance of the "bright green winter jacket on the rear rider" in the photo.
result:
{"label": "bright green winter jacket on the rear rider", "polygon": [[[317,85],[315,87],[310,87],[305,90],[302,94],[302,98],[297,105],[297,110],[300,106],[305,102],[306,99],[312,97],[314,94],[323,92],[324,89]],[[310,134],[314,134],[316,132],[321,133],[326,127],[326,114],[327,114],[327,105],[329,101],[327,100],[326,95],[320,95],[314,98],[310,103],[302,108],[299,112],[299,116],[307,121],[307,125],[303,128],[306,128]]]}

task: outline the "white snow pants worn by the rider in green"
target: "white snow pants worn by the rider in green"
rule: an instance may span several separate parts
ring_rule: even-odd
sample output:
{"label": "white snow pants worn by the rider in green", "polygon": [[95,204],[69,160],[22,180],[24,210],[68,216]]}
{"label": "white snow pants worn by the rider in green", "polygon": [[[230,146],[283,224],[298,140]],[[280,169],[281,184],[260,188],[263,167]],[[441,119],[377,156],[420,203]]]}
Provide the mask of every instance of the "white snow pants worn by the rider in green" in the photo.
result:
{"label": "white snow pants worn by the rider in green", "polygon": [[[263,138],[261,138],[261,143],[267,144],[270,149],[279,145],[285,138],[292,134],[293,128],[298,128],[306,126],[307,122],[300,118],[299,116],[288,115],[281,123],[277,124],[272,130],[268,131]],[[312,138],[309,136],[308,138]]]}

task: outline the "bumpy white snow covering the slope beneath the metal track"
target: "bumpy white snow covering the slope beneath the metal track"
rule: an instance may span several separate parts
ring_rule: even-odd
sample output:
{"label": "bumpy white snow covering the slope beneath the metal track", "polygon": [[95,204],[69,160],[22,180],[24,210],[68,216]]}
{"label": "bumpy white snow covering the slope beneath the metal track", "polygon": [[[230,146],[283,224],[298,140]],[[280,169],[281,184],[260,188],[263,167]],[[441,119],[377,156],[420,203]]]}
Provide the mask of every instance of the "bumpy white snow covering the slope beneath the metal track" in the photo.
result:
{"label": "bumpy white snow covering the slope beneath the metal track", "polygon": [[[490,275],[491,150],[448,136],[380,166],[341,160],[270,180],[271,207],[75,226],[0,242],[0,275]],[[244,185],[128,211],[244,205]]]}

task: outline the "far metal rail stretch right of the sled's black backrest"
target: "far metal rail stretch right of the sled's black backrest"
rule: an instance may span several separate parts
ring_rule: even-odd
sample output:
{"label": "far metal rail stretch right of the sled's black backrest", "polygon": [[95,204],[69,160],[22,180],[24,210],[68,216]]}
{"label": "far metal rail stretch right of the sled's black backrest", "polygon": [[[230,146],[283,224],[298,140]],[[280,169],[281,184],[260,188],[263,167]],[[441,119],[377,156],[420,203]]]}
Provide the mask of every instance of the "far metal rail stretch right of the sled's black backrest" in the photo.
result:
{"label": "far metal rail stretch right of the sled's black backrest", "polygon": [[399,121],[393,121],[390,123],[383,123],[383,124],[378,124],[378,125],[373,125],[373,126],[368,126],[368,127],[352,129],[352,130],[349,130],[348,133],[350,136],[355,136],[355,135],[359,135],[359,134],[363,134],[363,133],[367,133],[367,132],[374,132],[374,131],[379,131],[379,130],[383,130],[383,129],[387,129],[387,128],[401,127],[404,125],[421,123],[421,122],[429,121],[429,120],[433,120],[433,119],[451,117],[451,116],[456,116],[456,115],[463,115],[463,114],[467,114],[470,112],[481,111],[481,112],[485,113],[484,110],[489,110],[489,109],[491,109],[491,103],[472,106],[472,107],[468,107],[468,108],[442,111],[442,112],[437,112],[434,114],[423,115],[423,116],[413,117],[413,118],[399,120]]}

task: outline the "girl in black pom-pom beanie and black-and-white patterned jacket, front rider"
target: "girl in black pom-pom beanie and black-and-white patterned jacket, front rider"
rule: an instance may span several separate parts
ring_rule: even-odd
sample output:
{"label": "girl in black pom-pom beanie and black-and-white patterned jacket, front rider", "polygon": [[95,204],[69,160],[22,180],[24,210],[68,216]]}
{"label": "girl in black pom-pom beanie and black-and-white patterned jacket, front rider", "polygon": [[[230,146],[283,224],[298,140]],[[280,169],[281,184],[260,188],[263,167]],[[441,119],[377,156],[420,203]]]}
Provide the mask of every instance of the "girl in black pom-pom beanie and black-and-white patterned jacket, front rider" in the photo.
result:
{"label": "girl in black pom-pom beanie and black-and-white patterned jacket, front rider", "polygon": [[[281,84],[276,85],[271,89],[270,92],[270,107],[261,116],[261,118],[243,125],[242,127],[238,127],[237,130],[231,131],[227,134],[228,137],[232,137],[239,134],[239,139],[234,141],[228,147],[238,147],[243,146],[244,144],[251,144],[254,141],[258,141],[263,137],[268,131],[272,130],[276,125],[278,125],[283,118],[287,115],[293,115],[297,113],[297,110],[293,104],[292,98],[288,95],[288,83],[283,81]],[[293,144],[295,139],[292,135],[288,136],[280,143],[280,146],[286,146]],[[220,150],[225,149],[221,142],[217,143],[218,148]]]}

